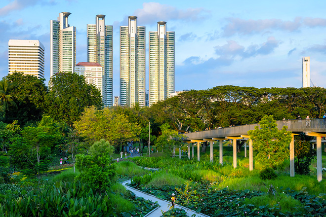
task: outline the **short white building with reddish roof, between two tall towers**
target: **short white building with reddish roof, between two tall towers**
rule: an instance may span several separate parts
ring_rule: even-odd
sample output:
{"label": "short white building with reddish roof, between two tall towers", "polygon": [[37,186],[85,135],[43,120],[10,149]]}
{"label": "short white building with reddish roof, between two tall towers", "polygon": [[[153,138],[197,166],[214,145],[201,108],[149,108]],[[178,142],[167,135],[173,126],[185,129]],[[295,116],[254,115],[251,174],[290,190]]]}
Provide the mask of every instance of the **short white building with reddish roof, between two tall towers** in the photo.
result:
{"label": "short white building with reddish roof, between two tall towers", "polygon": [[98,63],[78,63],[75,66],[74,73],[85,76],[89,84],[94,84],[96,88],[103,93],[103,67]]}

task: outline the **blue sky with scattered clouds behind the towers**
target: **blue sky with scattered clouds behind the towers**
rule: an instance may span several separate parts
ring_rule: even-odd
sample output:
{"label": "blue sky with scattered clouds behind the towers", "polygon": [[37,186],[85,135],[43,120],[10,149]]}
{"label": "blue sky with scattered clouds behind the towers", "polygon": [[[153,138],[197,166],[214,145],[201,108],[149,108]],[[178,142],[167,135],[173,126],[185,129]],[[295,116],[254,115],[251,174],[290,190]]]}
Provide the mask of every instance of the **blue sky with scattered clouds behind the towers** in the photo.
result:
{"label": "blue sky with scattered clouds behind the towers", "polygon": [[38,39],[50,77],[50,20],[71,12],[77,28],[77,63],[86,62],[86,25],[97,14],[113,25],[113,89],[119,96],[119,27],[138,17],[148,32],[166,21],[175,32],[175,90],[219,85],[302,87],[302,57],[310,56],[311,85],[326,87],[325,0],[1,0],[0,76],[8,73],[8,40]]}

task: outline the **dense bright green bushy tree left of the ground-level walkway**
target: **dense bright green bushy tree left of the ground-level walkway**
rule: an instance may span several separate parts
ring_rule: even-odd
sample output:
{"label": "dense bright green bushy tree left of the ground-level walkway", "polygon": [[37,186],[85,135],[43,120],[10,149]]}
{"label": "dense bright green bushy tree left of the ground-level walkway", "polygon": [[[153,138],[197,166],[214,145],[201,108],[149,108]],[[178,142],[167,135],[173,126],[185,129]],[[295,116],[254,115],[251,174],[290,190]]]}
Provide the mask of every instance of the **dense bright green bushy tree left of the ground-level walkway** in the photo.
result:
{"label": "dense bright green bushy tree left of the ground-level walkway", "polygon": [[114,147],[102,139],[89,148],[89,155],[77,155],[76,167],[81,173],[76,179],[88,183],[98,191],[110,188],[116,174],[110,157],[113,150]]}

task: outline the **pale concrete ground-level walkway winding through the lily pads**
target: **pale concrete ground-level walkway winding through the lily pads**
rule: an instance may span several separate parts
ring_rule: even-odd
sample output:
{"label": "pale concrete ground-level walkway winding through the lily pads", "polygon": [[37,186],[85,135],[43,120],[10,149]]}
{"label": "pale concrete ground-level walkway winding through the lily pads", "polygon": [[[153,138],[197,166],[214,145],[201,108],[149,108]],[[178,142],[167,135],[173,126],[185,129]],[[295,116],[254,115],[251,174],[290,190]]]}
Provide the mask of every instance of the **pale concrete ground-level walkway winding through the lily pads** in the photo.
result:
{"label": "pale concrete ground-level walkway winding through the lily pads", "polygon": [[[170,202],[166,201],[166,200],[162,200],[162,199],[159,199],[151,194],[147,194],[147,193],[144,193],[142,191],[139,191],[133,187],[129,187],[127,186],[126,184],[130,183],[131,181],[128,180],[128,181],[124,181],[122,182],[122,185],[125,186],[125,188],[127,190],[130,190],[132,191],[136,197],[143,197],[145,200],[150,200],[152,202],[158,202],[158,204],[160,205],[160,207],[156,208],[155,210],[153,210],[152,212],[150,212],[149,214],[147,214],[145,217],[160,217],[162,216],[162,212],[164,211],[168,211],[169,210],[169,207],[167,205],[171,205]],[[182,206],[179,206],[179,205],[175,205],[175,208],[179,208],[179,209],[184,209],[186,212],[187,212],[187,215],[188,216],[192,216],[192,215],[196,215],[196,217],[209,217],[207,215],[204,215],[204,214],[201,214],[201,213],[196,213],[195,211],[193,210],[190,210],[190,209],[187,209],[185,207],[182,207]]]}

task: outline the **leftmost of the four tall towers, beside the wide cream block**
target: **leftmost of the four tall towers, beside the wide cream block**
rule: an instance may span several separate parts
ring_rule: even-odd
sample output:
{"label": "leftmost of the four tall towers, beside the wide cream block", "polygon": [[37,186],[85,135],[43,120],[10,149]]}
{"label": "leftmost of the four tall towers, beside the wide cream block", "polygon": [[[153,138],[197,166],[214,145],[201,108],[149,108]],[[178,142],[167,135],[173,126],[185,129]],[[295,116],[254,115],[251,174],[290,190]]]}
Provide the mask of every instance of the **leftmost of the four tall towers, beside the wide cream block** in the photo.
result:
{"label": "leftmost of the four tall towers, beside the wide cream block", "polygon": [[71,13],[59,13],[58,20],[50,20],[50,75],[74,72],[76,65],[76,27],[68,24]]}

